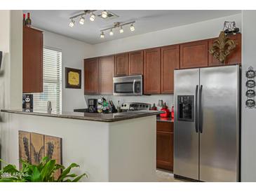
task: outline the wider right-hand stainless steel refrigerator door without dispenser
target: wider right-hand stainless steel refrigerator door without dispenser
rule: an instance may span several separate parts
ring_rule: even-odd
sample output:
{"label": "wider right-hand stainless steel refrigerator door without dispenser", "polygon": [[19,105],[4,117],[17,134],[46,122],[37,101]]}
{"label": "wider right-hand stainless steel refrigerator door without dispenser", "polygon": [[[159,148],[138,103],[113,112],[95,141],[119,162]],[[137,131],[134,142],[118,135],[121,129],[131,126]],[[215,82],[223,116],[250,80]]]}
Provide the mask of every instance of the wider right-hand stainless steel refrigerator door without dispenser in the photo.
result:
{"label": "wider right-hand stainless steel refrigerator door without dispenser", "polygon": [[236,65],[200,69],[201,181],[239,179],[239,82]]}

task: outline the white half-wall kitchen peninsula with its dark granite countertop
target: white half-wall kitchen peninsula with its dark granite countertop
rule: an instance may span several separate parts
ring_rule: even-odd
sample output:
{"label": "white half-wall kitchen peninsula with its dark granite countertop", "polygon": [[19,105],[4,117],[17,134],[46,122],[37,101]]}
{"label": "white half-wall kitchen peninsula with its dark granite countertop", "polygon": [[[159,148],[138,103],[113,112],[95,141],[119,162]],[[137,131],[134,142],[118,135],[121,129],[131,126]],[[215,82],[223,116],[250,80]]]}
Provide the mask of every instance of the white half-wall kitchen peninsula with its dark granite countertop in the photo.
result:
{"label": "white half-wall kitchen peninsula with its dark granite countertop", "polygon": [[77,163],[82,181],[156,181],[156,115],[161,111],[118,114],[25,112],[8,113],[11,130],[3,151],[8,163],[18,166],[18,131],[62,138],[62,163]]}

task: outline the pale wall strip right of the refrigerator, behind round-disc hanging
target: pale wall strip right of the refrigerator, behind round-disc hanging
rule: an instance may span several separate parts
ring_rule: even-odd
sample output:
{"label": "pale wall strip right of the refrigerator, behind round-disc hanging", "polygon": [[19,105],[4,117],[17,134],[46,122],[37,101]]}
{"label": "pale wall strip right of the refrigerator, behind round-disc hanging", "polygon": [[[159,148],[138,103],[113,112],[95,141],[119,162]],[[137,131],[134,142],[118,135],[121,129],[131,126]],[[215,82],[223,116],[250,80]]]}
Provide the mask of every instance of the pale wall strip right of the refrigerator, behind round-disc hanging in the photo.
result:
{"label": "pale wall strip right of the refrigerator, behind round-disc hanging", "polygon": [[245,108],[245,71],[252,66],[256,70],[255,23],[256,11],[243,11],[242,47],[242,126],[241,126],[241,180],[256,181],[256,109]]}

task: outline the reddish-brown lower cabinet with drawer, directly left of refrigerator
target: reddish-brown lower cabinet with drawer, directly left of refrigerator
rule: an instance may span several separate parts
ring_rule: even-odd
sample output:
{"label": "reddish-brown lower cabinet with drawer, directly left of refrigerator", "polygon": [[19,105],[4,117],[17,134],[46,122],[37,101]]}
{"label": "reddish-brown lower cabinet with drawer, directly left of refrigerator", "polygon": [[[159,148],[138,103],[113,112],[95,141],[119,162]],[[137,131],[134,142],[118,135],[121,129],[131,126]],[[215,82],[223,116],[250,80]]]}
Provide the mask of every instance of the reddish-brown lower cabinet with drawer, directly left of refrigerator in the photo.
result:
{"label": "reddish-brown lower cabinet with drawer, directly left of refrigerator", "polygon": [[173,122],[156,122],[156,167],[173,171]]}

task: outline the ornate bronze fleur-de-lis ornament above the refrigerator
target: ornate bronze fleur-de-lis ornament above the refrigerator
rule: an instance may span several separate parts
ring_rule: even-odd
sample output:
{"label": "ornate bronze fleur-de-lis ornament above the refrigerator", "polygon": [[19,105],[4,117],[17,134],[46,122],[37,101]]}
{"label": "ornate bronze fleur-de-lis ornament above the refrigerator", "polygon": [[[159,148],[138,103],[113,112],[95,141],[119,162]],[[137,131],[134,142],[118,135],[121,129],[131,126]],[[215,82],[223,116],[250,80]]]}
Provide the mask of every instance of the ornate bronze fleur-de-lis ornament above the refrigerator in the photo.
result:
{"label": "ornate bronze fleur-de-lis ornament above the refrigerator", "polygon": [[219,38],[213,42],[213,46],[210,48],[209,52],[217,60],[224,63],[231,50],[234,50],[234,48],[236,48],[235,41],[230,40],[224,32],[220,32]]}

